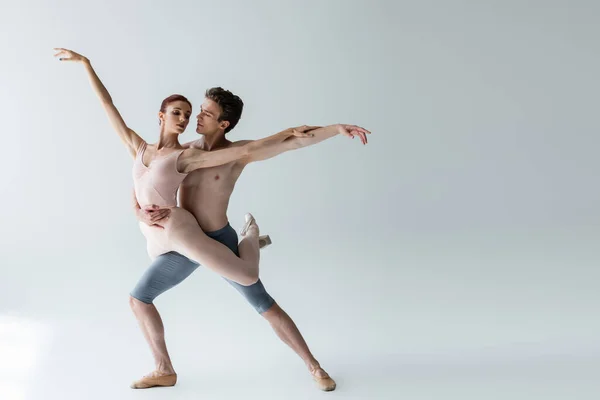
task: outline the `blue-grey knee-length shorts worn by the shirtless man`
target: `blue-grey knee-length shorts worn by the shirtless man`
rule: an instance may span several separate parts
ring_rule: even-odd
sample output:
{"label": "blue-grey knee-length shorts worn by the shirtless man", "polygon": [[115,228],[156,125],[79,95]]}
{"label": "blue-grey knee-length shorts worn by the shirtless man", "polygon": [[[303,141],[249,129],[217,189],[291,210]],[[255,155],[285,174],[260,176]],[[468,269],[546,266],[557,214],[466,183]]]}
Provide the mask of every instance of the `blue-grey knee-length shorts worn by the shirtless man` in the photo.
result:
{"label": "blue-grey knee-length shorts worn by the shirtless man", "polygon": [[[235,229],[227,224],[224,228],[206,235],[229,247],[238,257],[238,236]],[[182,282],[191,275],[200,264],[174,251],[158,256],[144,272],[130,295],[141,302],[151,304],[158,295]],[[250,286],[223,278],[237,289],[259,313],[267,311],[275,300],[265,290],[260,279]]]}

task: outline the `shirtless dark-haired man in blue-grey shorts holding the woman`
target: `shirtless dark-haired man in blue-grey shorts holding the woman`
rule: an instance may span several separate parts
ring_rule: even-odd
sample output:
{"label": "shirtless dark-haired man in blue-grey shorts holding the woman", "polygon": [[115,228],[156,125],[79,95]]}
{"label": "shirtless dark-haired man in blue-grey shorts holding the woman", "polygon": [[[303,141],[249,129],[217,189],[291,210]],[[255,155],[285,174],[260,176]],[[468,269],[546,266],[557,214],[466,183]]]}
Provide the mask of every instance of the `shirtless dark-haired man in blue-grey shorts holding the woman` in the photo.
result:
{"label": "shirtless dark-haired man in blue-grey shorts holding the woman", "polygon": [[[200,114],[196,117],[198,121],[196,132],[203,137],[188,145],[206,151],[214,151],[247,144],[250,142],[249,140],[231,142],[225,138],[225,134],[238,123],[242,109],[242,100],[231,92],[222,88],[207,90]],[[322,128],[304,126],[292,129],[311,131],[313,136],[290,137],[282,143],[251,154],[246,159],[218,167],[196,170],[188,175],[180,187],[180,206],[196,217],[202,230],[208,236],[228,246],[236,254],[238,254],[238,238],[235,230],[229,225],[227,207],[235,183],[246,165],[266,160],[289,150],[319,143],[338,134],[351,138],[358,136],[361,142],[366,144],[366,135],[370,133],[358,126],[340,124]],[[140,209],[137,201],[134,200],[134,203],[137,218],[148,225],[156,225],[157,229],[160,229],[160,220],[168,218],[169,210],[161,210],[158,207]],[[131,308],[150,345],[156,363],[156,370],[134,382],[132,388],[173,386],[176,383],[177,375],[167,352],[162,320],[152,302],[159,294],[187,278],[198,265],[178,253],[163,254],[152,262],[131,292]],[[250,286],[227,281],[271,324],[279,338],[302,358],[317,387],[325,391],[334,390],[335,381],[320,366],[294,321],[269,296],[260,279]]]}

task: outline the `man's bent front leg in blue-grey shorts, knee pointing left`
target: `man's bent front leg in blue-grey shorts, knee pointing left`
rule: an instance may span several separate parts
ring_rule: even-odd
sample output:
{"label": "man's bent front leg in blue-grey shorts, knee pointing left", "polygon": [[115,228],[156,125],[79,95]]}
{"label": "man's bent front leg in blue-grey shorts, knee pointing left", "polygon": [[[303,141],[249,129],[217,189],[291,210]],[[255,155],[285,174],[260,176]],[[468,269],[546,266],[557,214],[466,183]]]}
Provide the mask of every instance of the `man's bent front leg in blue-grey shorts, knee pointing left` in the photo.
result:
{"label": "man's bent front leg in blue-grey shorts, knee pointing left", "polygon": [[152,302],[158,295],[187,278],[197,267],[198,264],[178,253],[163,254],[154,260],[131,292],[129,304],[156,365],[155,371],[135,381],[132,388],[173,386],[177,382],[177,374],[167,351],[164,325]]}

